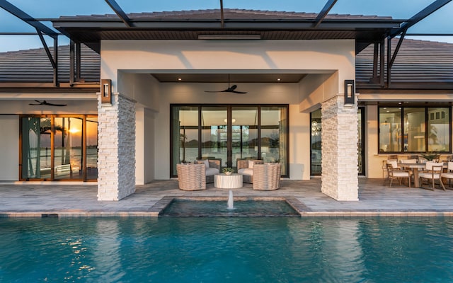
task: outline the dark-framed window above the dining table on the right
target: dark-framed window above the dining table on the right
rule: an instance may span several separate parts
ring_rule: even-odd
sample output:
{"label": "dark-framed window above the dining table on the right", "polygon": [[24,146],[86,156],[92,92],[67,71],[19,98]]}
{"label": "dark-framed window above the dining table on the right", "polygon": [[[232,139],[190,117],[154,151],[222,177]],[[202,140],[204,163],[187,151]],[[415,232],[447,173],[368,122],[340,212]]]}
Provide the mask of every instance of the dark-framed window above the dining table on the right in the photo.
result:
{"label": "dark-framed window above the dining table on the right", "polygon": [[379,153],[451,151],[450,108],[379,107]]}

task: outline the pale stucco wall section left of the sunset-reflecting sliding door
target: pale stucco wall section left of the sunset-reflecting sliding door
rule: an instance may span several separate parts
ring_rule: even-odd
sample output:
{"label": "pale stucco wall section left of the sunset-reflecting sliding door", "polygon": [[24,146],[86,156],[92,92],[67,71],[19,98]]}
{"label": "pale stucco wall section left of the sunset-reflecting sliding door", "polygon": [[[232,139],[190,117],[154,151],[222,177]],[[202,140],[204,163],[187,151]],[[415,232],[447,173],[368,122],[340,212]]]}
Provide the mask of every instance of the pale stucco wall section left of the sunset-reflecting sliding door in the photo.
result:
{"label": "pale stucco wall section left of the sunset-reflecting sliding door", "polygon": [[0,115],[0,180],[19,178],[19,116]]}

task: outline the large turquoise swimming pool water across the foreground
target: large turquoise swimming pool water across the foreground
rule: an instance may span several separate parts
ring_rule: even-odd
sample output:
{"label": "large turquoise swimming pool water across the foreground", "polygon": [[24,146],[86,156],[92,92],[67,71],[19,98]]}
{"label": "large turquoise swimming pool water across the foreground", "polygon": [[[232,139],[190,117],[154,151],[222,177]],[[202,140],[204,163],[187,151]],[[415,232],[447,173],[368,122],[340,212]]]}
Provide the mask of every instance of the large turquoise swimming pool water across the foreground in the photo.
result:
{"label": "large turquoise swimming pool water across the foreground", "polygon": [[0,282],[453,282],[453,219],[0,219]]}

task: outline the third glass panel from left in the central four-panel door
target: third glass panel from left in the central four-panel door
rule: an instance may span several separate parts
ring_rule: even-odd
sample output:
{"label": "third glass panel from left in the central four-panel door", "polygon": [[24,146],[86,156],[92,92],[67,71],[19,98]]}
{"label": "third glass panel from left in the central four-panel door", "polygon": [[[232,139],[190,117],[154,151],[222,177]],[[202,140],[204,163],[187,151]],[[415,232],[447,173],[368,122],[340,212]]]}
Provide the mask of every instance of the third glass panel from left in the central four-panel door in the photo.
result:
{"label": "third glass panel from left in the central four-panel door", "polygon": [[231,167],[240,158],[258,158],[258,107],[233,107],[231,110]]}

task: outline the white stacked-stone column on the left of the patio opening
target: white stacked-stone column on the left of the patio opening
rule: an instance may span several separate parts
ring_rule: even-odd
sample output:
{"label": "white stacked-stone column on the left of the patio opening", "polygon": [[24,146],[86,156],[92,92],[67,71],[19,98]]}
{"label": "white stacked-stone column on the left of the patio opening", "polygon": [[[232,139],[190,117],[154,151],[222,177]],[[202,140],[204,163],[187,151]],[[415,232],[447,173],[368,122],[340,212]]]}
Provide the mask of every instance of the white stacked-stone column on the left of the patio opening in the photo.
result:
{"label": "white stacked-stone column on the left of the patio opening", "polygon": [[98,97],[98,200],[121,200],[135,192],[135,101]]}

